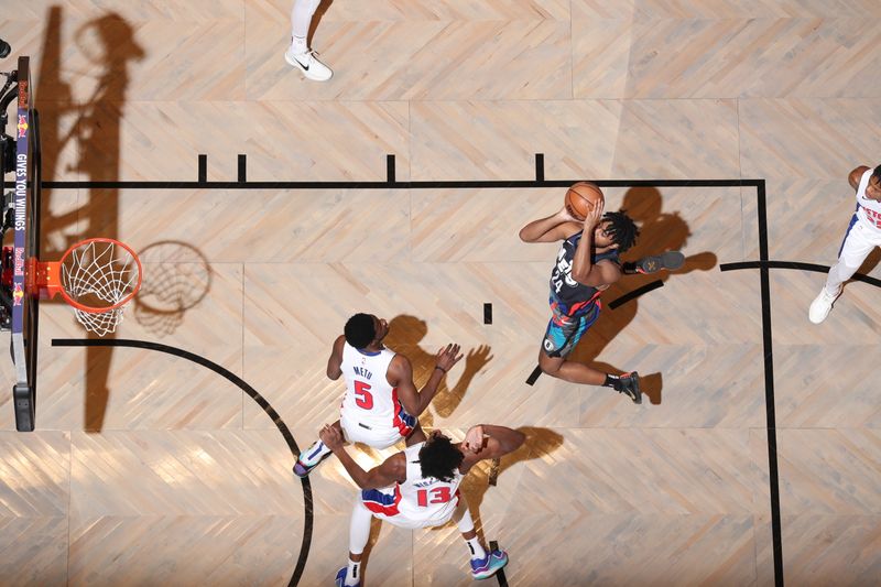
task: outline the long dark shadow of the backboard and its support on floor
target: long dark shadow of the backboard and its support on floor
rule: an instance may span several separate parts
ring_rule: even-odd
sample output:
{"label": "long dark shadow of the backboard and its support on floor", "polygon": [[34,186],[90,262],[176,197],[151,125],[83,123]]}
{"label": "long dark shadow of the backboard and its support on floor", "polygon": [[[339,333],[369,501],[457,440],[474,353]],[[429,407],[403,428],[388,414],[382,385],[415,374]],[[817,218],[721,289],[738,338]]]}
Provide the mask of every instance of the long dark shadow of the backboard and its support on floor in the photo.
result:
{"label": "long dark shadow of the backboard and its support on floor", "polygon": [[[134,39],[134,28],[115,12],[85,22],[74,32],[85,70],[66,72],[62,66],[62,7],[50,7],[43,42],[43,59],[36,100],[45,109],[41,124],[43,178],[58,181],[64,173],[75,173],[86,182],[119,181],[121,161],[121,120],[129,87],[129,67],[144,57]],[[91,85],[91,95],[74,95],[64,75],[79,76]],[[62,129],[62,118],[65,119]],[[63,153],[76,152],[74,163],[62,166]],[[57,193],[45,191],[42,216],[42,257],[57,260],[69,244],[88,237],[118,238],[119,189],[90,188],[77,196],[77,206],[59,202]],[[56,196],[53,198],[53,196]],[[83,200],[85,204],[81,204]],[[62,210],[55,214],[53,210]],[[73,318],[72,318],[73,319]],[[108,335],[112,337],[113,335]],[[95,338],[91,333],[88,338]],[[108,401],[108,377],[112,347],[88,347],[85,365],[85,430],[104,427]]]}

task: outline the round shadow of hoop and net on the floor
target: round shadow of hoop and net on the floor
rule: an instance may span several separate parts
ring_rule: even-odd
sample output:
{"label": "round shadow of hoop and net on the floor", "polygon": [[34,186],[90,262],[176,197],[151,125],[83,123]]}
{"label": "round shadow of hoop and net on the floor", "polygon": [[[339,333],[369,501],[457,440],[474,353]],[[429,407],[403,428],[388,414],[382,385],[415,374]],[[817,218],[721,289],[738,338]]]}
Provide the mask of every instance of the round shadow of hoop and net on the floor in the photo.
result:
{"label": "round shadow of hoop and net on the floor", "polygon": [[202,252],[186,242],[162,240],[140,251],[144,267],[134,298],[134,319],[157,336],[174,334],[187,309],[211,287],[211,268]]}

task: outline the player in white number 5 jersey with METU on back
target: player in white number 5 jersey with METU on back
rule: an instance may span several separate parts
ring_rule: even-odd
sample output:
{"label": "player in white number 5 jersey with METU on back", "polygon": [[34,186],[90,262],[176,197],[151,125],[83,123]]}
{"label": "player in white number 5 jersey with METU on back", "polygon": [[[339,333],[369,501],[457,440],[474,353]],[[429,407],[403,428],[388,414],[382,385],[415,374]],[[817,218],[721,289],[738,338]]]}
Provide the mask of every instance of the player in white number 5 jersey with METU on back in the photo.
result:
{"label": "player in white number 5 jersey with METU on back", "polygon": [[[346,380],[339,420],[331,426],[350,443],[388,448],[422,428],[417,417],[437,393],[447,371],[461,359],[459,345],[437,351],[432,377],[421,391],[413,383],[413,368],[403,355],[382,345],[389,323],[372,314],[356,314],[334,341],[327,377]],[[305,477],[330,454],[320,439],[300,453],[294,475]]]}

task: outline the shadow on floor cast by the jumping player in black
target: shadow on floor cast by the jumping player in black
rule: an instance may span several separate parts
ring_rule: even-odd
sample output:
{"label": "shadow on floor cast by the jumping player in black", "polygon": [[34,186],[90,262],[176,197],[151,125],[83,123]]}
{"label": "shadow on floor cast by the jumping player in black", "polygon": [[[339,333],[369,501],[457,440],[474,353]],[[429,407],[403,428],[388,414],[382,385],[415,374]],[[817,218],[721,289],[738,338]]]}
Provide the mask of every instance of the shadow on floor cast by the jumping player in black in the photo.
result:
{"label": "shadow on floor cast by the jumping player in black", "polygon": [[[633,218],[640,226],[640,236],[630,250],[624,252],[622,261],[635,261],[643,257],[659,254],[664,251],[683,251],[686,254],[685,264],[675,271],[662,270],[651,274],[623,275],[602,293],[602,311],[599,319],[581,338],[578,346],[569,356],[572,360],[584,362],[606,372],[619,372],[623,369],[606,362],[594,360],[602,352],[606,346],[618,336],[637,316],[639,301],[630,300],[613,307],[619,297],[648,286],[652,282],[666,282],[672,276],[679,276],[692,271],[709,271],[718,264],[716,254],[704,251],[688,254],[686,244],[692,231],[688,224],[678,213],[665,213],[661,192],[654,187],[633,187],[624,194],[621,209]],[[652,295],[648,292],[645,295]],[[639,365],[629,365],[629,370],[639,371]],[[663,396],[663,374],[640,373],[640,388],[649,401],[659,405]]]}

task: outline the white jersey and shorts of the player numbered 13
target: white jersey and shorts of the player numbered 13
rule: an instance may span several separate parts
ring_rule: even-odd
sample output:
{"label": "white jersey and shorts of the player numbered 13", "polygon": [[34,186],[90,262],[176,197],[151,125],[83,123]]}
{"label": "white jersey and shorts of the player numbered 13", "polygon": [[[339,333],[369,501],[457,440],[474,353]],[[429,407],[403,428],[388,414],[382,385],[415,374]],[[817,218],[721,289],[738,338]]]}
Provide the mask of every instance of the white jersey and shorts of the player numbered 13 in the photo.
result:
{"label": "white jersey and shorts of the player numbered 13", "polygon": [[404,449],[406,480],[384,489],[365,489],[361,501],[381,520],[400,528],[428,528],[449,521],[459,502],[463,475],[456,470],[452,481],[423,477],[417,443]]}

